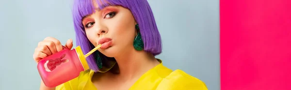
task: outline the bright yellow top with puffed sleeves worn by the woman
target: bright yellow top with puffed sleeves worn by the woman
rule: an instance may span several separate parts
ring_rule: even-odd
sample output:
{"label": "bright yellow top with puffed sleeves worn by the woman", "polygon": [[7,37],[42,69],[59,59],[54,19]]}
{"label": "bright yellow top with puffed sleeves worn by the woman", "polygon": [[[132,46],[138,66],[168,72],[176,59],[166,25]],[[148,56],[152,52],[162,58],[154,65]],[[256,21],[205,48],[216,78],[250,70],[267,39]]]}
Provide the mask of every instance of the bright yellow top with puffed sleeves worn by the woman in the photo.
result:
{"label": "bright yellow top with puffed sleeves worn by the woman", "polygon": [[[201,80],[181,70],[172,71],[159,61],[159,65],[142,75],[129,90],[208,90]],[[81,72],[79,77],[57,86],[56,90],[97,90],[91,82],[93,74],[93,70]]]}

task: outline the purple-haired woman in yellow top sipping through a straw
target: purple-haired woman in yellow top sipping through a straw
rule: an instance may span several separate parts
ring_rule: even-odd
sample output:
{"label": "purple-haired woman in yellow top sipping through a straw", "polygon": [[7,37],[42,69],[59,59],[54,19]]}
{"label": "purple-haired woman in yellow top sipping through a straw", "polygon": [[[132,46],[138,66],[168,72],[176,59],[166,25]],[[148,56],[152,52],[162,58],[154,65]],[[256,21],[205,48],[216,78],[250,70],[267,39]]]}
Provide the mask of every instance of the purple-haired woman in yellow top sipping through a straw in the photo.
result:
{"label": "purple-haired woman in yellow top sipping through a straw", "polygon": [[[207,90],[199,79],[155,58],[162,42],[146,0],[75,0],[73,19],[84,53],[102,46],[87,58],[90,70],[53,89],[42,82],[41,90]],[[71,49],[72,40],[64,46]],[[38,62],[61,50],[59,40],[47,37],[33,58]]]}

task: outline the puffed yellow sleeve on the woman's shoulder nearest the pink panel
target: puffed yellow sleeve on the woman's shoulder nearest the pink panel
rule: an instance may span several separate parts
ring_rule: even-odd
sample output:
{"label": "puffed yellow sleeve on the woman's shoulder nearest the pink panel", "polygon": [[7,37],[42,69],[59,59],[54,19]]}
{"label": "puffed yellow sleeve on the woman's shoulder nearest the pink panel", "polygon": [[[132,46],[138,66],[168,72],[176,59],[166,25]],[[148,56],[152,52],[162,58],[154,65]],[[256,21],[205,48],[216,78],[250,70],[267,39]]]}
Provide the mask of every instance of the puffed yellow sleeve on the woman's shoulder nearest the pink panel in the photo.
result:
{"label": "puffed yellow sleeve on the woman's shoulder nearest the pink panel", "polygon": [[163,78],[157,90],[208,90],[205,83],[198,78],[175,70]]}

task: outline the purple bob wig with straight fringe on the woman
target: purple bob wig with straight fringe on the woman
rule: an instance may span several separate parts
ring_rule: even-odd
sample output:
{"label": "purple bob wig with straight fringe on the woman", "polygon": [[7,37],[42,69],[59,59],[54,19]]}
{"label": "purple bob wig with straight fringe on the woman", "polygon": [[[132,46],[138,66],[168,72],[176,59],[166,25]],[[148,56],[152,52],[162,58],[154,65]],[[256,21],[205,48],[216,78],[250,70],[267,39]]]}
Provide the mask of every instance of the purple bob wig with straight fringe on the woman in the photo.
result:
{"label": "purple bob wig with straight fringe on the woman", "polygon": [[[102,10],[107,6],[122,6],[131,11],[136,22],[139,24],[140,33],[144,41],[144,50],[159,55],[162,52],[162,41],[158,31],[154,15],[147,0],[97,0],[99,8]],[[84,27],[82,25],[82,17],[95,12],[93,0],[75,0],[73,5],[73,21],[76,32],[76,43],[81,46],[83,53],[87,53],[94,48],[94,45],[88,40]],[[132,42],[133,43],[133,42]],[[102,63],[104,60],[102,59]],[[114,58],[113,58],[114,59]],[[97,63],[94,55],[87,57],[90,69],[98,71]]]}

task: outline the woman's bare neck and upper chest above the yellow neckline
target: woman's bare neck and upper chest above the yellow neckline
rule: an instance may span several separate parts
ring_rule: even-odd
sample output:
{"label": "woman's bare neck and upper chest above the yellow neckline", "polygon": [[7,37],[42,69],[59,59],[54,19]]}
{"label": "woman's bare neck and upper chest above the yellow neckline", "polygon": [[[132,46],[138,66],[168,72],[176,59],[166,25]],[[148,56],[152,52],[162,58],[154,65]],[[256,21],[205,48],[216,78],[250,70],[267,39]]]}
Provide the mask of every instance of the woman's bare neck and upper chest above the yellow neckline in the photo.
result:
{"label": "woman's bare neck and upper chest above the yellow neckline", "polygon": [[152,54],[145,51],[132,50],[120,55],[120,57],[114,58],[117,61],[120,72],[117,76],[125,80],[136,78],[136,76],[140,77],[148,70],[160,64]]}

